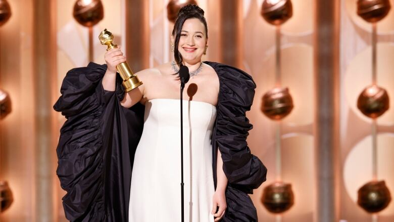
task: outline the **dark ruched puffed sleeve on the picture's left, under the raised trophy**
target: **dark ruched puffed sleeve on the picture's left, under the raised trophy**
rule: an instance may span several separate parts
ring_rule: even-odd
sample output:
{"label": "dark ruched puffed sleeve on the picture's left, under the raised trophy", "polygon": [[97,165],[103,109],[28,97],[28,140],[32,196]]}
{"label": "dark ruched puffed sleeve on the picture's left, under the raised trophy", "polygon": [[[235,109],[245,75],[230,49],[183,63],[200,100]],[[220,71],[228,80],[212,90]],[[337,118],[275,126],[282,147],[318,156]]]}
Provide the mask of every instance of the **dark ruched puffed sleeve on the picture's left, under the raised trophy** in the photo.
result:
{"label": "dark ruched puffed sleeve on the picture's left, under the raised trophy", "polygon": [[143,109],[120,105],[119,76],[114,92],[104,90],[106,70],[95,63],[70,70],[54,105],[67,118],[60,130],[57,174],[67,192],[63,207],[70,221],[128,220],[130,158],[142,131]]}

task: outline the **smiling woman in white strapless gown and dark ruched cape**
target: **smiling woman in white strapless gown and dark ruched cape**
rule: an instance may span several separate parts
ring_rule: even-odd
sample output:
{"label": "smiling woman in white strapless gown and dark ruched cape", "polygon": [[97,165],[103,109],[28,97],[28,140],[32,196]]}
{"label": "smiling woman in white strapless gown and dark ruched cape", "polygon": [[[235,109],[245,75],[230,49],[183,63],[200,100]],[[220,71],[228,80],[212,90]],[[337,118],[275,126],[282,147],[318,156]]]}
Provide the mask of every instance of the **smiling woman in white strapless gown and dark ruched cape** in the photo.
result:
{"label": "smiling woman in white strapless gown and dark ruched cape", "polygon": [[[188,5],[179,11],[171,42],[175,61],[136,73],[143,84],[126,94],[120,89],[119,79],[116,80],[116,65],[126,61],[120,49],[106,53],[106,70],[89,64],[86,69],[68,73],[68,76],[78,76],[78,81],[81,72],[87,73],[86,87],[75,84],[80,91],[74,89],[67,93],[72,88],[69,84],[72,77],[66,81],[66,76],[63,98],[55,104],[55,109],[69,117],[62,128],[62,136],[67,136],[63,139],[61,136],[58,146],[58,175],[67,195],[71,194],[63,199],[70,220],[127,221],[128,208],[130,222],[180,221],[179,80],[174,73],[180,65],[185,65],[192,70],[183,93],[188,99],[184,102],[185,221],[257,221],[256,209],[247,194],[265,181],[266,168],[250,153],[245,142],[252,128],[245,112],[252,105],[255,83],[241,70],[218,63],[202,63],[202,55],[208,47],[208,28],[204,11],[198,6]],[[87,88],[91,92],[93,87],[94,96],[86,96]],[[85,102],[78,106],[81,108],[70,110],[71,102],[65,99],[67,95],[81,95],[72,101]],[[96,100],[98,103],[93,102]],[[86,109],[90,104],[95,104],[94,108]],[[141,104],[145,106],[142,132]],[[87,110],[86,114],[77,112],[81,110]],[[70,117],[77,121],[70,121]],[[78,134],[71,128],[86,131],[85,127],[76,127],[80,123],[75,122],[80,119],[97,120],[98,129],[87,130],[93,131],[88,137],[98,131],[93,138],[97,140],[101,136],[103,141],[93,144],[93,151],[83,152],[89,155],[67,149],[70,144],[73,144],[71,147],[78,144],[77,148],[81,148],[86,146],[84,141],[89,144],[92,141],[86,139],[87,132],[81,133],[78,139],[71,138],[70,135]],[[130,132],[135,132],[134,136]],[[84,139],[81,141],[81,138]],[[70,142],[73,139],[75,143]],[[130,154],[124,155],[129,147],[132,148]],[[76,152],[74,156],[69,154],[73,152]],[[69,169],[64,167],[79,156],[94,159],[91,164],[80,167],[81,174],[85,174],[82,179],[78,173],[70,176]],[[70,158],[72,163],[61,162],[70,162]],[[132,177],[127,170],[130,162]],[[91,171],[88,174],[86,168],[100,169],[98,172],[102,173]],[[86,177],[94,180],[85,180]],[[131,185],[127,183],[130,177]],[[89,194],[86,195],[76,188],[81,187],[80,183],[84,188],[90,183],[95,189],[82,189]],[[127,192],[129,187],[130,193]],[[86,200],[81,201],[83,204],[78,204],[80,196],[87,196],[82,198]],[[80,206],[83,210],[78,211]]]}

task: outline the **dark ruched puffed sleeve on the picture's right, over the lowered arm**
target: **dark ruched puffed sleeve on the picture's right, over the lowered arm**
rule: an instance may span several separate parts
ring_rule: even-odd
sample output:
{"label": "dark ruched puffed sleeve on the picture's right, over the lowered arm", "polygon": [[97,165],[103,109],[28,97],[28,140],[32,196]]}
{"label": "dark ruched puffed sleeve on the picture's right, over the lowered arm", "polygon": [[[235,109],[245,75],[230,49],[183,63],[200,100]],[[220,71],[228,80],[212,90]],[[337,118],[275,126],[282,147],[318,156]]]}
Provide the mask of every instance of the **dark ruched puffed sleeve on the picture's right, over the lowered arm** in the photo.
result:
{"label": "dark ruched puffed sleeve on the picture's right, over the lowered arm", "polygon": [[256,208],[248,194],[266,180],[267,168],[251,154],[246,141],[253,127],[246,112],[251,109],[256,84],[242,70],[219,63],[207,64],[215,69],[220,82],[212,143],[215,184],[217,149],[228,179],[223,221],[257,221]]}

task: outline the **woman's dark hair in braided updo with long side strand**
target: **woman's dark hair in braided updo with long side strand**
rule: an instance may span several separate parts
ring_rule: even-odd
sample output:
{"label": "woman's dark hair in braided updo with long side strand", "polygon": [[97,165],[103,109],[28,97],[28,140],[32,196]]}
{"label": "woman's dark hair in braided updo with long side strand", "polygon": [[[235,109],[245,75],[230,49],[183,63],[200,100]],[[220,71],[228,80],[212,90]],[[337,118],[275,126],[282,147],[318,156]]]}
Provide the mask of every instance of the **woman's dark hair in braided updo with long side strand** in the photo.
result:
{"label": "woman's dark hair in braided updo with long side strand", "polygon": [[207,21],[205,20],[204,17],[204,10],[202,10],[199,6],[196,5],[186,5],[182,7],[175,20],[174,24],[174,29],[172,30],[172,35],[175,36],[175,42],[174,42],[174,59],[176,64],[181,64],[183,61],[182,55],[178,51],[178,45],[179,45],[179,38],[180,38],[180,33],[182,30],[183,23],[187,19],[191,18],[196,18],[199,19],[205,26],[205,33],[207,34],[208,38],[208,26],[207,26]]}

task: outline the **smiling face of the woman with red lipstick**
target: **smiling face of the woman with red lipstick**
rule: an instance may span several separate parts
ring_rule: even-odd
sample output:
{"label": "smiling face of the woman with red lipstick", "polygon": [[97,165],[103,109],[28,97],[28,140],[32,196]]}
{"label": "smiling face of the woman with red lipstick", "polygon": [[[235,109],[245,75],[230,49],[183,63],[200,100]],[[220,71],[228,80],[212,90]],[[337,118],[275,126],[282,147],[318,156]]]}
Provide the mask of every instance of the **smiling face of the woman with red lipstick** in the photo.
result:
{"label": "smiling face of the woman with red lipstick", "polygon": [[183,61],[189,64],[200,62],[206,45],[204,24],[197,18],[187,19],[183,23],[178,45]]}

